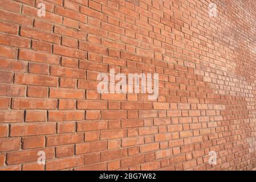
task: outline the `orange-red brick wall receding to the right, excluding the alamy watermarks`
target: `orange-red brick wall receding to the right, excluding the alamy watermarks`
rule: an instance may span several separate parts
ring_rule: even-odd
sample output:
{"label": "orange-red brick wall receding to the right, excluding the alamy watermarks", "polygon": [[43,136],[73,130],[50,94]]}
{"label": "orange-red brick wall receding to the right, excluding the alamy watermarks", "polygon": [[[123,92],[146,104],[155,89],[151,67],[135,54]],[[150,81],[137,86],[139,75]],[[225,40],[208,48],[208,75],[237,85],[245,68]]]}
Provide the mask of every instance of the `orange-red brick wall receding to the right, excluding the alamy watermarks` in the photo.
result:
{"label": "orange-red brick wall receding to the right, excluding the alamy watermarks", "polygon": [[[0,169],[255,168],[256,3],[210,2],[1,0]],[[159,97],[99,94],[111,68]]]}

